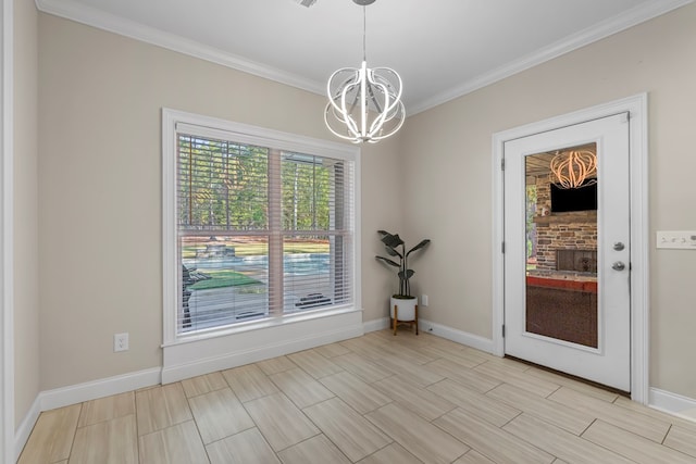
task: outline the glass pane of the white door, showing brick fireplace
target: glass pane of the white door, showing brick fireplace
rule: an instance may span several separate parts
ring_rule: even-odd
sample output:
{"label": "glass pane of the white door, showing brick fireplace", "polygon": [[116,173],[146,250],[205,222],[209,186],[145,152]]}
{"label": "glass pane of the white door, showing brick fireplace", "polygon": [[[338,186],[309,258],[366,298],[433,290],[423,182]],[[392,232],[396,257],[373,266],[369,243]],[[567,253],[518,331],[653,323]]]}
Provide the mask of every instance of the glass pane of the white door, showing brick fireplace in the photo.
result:
{"label": "glass pane of the white door, showing brick fireplace", "polygon": [[597,145],[525,156],[525,330],[598,348]]}

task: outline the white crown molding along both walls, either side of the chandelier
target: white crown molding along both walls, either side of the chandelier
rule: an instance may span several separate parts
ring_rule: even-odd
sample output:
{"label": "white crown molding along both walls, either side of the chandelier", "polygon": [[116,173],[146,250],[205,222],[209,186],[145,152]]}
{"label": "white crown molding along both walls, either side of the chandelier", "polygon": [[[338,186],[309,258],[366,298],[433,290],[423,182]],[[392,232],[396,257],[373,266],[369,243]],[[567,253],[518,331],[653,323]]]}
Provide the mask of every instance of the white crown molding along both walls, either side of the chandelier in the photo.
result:
{"label": "white crown molding along both walls, either side of the chandelier", "polygon": [[[536,50],[526,57],[522,57],[488,73],[475,76],[461,83],[459,86],[415,103],[407,109],[407,113],[410,116],[430,110],[694,1],[695,0],[655,0],[641,4],[625,13],[609,17],[597,25]],[[296,74],[287,73],[283,70],[271,67],[175,34],[144,26],[142,24],[85,5],[75,0],[36,0],[36,5],[39,11],[44,13],[72,20],[254,76],[297,87],[316,95],[324,95],[325,91],[324,83],[307,79]]]}

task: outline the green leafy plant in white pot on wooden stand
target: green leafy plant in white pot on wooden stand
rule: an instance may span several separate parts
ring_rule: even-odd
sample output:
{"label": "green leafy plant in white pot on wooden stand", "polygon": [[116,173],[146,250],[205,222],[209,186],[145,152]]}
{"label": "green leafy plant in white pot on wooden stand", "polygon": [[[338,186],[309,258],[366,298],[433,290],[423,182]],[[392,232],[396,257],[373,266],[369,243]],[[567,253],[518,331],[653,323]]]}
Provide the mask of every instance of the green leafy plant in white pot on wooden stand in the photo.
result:
{"label": "green leafy plant in white pot on wooden stand", "polygon": [[[427,247],[431,240],[421,240],[420,243],[407,251],[406,243],[398,234],[390,234],[386,230],[377,230],[377,234],[381,236],[387,254],[395,256],[395,259],[375,256],[376,260],[396,267],[399,276],[399,292],[391,296],[389,317],[395,322],[395,326],[397,321],[415,321],[418,323],[415,314],[418,299],[411,296],[411,285],[409,283],[409,279],[413,277],[415,271],[409,268],[409,255],[414,251]],[[396,315],[394,311],[395,306],[398,306],[398,314]],[[418,334],[418,327],[415,328],[415,333]]]}

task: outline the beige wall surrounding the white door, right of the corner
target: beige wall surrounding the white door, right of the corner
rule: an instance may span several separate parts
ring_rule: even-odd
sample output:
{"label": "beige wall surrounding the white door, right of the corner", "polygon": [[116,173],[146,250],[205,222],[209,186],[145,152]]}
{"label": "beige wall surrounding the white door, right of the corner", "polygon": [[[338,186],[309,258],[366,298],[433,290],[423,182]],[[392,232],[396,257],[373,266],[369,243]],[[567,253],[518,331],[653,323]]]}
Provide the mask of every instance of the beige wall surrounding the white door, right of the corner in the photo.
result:
{"label": "beige wall surrounding the white door, right of the corner", "polygon": [[[696,252],[655,231],[696,229],[696,4],[411,117],[403,128],[406,230],[430,236],[423,317],[492,337],[492,135],[647,91],[650,386],[696,398]],[[436,205],[436,206],[435,206]]]}

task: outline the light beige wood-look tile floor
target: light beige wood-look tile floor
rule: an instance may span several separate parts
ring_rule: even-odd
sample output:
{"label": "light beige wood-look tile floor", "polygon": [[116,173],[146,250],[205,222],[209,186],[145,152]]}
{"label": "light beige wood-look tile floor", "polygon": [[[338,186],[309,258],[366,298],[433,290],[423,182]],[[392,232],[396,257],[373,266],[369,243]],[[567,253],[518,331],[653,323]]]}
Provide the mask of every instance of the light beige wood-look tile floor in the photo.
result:
{"label": "light beige wood-look tile floor", "polygon": [[21,464],[696,463],[696,423],[383,330],[42,413]]}

